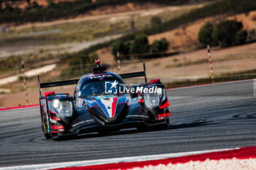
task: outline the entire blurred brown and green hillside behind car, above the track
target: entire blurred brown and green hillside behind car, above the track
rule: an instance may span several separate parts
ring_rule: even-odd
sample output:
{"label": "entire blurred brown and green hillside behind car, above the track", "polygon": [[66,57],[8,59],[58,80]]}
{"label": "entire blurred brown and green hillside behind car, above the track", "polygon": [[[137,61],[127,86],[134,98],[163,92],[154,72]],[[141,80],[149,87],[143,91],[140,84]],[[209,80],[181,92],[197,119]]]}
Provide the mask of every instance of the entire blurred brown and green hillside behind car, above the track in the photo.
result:
{"label": "entire blurred brown and green hillside behind car, above the track", "polygon": [[[107,2],[110,4],[104,4]],[[77,8],[80,12],[70,13]],[[52,12],[52,18],[48,12]],[[211,83],[208,53],[197,35],[206,22],[217,25],[221,20],[241,21],[239,29],[247,32],[247,39],[245,45],[211,47],[215,82],[256,78],[255,0],[56,1],[50,7],[45,4],[37,9],[4,10],[0,12],[3,18],[10,26],[10,31],[0,36],[0,93],[5,98],[9,95],[6,93],[23,92],[21,61],[31,93],[38,88],[37,74],[42,82],[79,78],[91,72],[94,58],[100,58],[108,70],[121,73],[139,72],[146,63],[148,80],[160,78],[169,88]],[[158,18],[157,25],[152,24],[152,18]],[[128,56],[121,56],[126,58],[121,58],[118,70],[116,53],[111,53],[113,42],[124,42],[131,49],[135,36],[146,39],[143,42],[147,42],[148,51],[129,51]],[[162,38],[168,42],[167,51],[152,53],[155,40]],[[7,101],[5,98],[3,101]]]}

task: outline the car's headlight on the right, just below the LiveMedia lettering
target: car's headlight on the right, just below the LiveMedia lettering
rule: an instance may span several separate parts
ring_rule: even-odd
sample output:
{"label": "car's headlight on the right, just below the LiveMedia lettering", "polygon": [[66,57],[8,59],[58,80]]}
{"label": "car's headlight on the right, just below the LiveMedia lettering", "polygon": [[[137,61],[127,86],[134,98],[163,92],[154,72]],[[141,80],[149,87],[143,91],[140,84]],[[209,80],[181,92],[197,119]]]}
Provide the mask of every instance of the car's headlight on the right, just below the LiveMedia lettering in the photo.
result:
{"label": "car's headlight on the right, just below the LiveMedia lettering", "polygon": [[160,98],[162,97],[162,90],[158,93],[143,93],[146,107],[152,108],[159,106]]}

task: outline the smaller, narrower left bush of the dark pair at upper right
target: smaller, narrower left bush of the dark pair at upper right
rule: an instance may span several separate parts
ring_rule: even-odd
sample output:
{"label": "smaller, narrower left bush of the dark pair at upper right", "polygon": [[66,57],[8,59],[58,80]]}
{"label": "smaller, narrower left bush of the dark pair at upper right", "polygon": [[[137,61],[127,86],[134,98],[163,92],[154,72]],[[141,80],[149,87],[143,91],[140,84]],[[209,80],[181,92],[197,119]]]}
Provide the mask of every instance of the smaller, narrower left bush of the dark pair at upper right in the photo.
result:
{"label": "smaller, narrower left bush of the dark pair at upper right", "polygon": [[214,41],[212,37],[212,33],[214,31],[214,25],[212,23],[205,23],[198,33],[198,40],[199,42],[206,47],[207,45],[217,45],[217,42]]}

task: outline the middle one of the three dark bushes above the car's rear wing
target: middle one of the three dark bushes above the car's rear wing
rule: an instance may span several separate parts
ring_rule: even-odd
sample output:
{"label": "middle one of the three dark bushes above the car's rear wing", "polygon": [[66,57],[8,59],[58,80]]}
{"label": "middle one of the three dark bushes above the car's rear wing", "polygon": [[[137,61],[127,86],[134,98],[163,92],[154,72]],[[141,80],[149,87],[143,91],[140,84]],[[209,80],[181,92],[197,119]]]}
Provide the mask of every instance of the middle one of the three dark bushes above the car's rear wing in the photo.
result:
{"label": "middle one of the three dark bushes above the car's rear wing", "polygon": [[129,52],[131,54],[148,53],[150,45],[148,45],[148,37],[146,34],[137,34],[135,36],[135,42],[130,45]]}

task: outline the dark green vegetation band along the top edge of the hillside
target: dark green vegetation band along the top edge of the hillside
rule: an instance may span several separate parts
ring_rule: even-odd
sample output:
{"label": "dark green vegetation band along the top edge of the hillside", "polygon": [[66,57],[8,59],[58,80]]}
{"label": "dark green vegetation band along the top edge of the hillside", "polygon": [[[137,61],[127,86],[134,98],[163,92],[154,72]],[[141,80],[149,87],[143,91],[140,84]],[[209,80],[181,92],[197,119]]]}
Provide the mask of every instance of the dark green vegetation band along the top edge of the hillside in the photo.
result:
{"label": "dark green vegetation band along the top edge of the hillside", "polygon": [[[21,23],[31,23],[36,21],[49,21],[49,20],[58,20],[60,18],[74,18],[78,15],[85,14],[94,9],[99,9],[99,7],[115,7],[116,5],[123,5],[127,3],[135,4],[145,4],[153,3],[157,5],[180,5],[180,4],[191,4],[198,3],[202,1],[211,1],[211,0],[80,0],[80,1],[45,1],[42,3],[44,5],[39,5],[39,1],[29,1],[29,6],[23,7],[21,4],[18,5],[18,1],[8,1],[2,3],[0,6],[0,22],[1,23],[12,23],[12,24],[21,24]],[[0,1],[1,2],[1,1]],[[15,5],[16,3],[16,5]],[[12,5],[10,5],[12,4]],[[20,7],[20,8],[19,8]],[[108,13],[115,12],[109,11]],[[124,11],[123,11],[124,12]]]}

